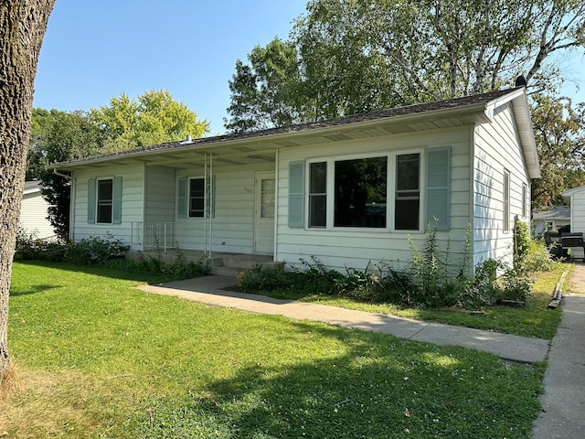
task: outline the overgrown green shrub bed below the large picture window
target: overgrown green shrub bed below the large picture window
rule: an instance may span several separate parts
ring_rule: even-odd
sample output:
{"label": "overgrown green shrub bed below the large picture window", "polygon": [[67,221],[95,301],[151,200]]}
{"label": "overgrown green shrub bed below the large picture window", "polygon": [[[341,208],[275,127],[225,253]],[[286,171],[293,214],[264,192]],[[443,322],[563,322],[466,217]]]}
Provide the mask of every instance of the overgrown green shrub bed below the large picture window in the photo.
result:
{"label": "overgrown green shrub bed below the large picture window", "polygon": [[[441,249],[436,227],[430,225],[422,251],[418,251],[410,240],[412,265],[408,271],[398,271],[380,263],[368,264],[365,270],[346,267],[346,273],[342,274],[328,269],[312,256],[309,261],[300,260],[301,269],[289,272],[260,266],[244,271],[239,273],[238,285],[240,289],[254,293],[335,294],[360,302],[429,307],[456,305],[469,310],[496,304],[526,304],[530,294],[527,270],[537,266],[531,262],[533,249],[537,249],[532,241],[519,240],[522,242],[518,247],[521,257],[517,261],[523,262],[517,267],[522,266],[522,269],[509,268],[502,262],[489,259],[475,267],[473,276],[467,273],[470,242],[471,227],[457,266],[450,261],[451,237]],[[544,256],[538,261],[538,266],[546,265]]]}

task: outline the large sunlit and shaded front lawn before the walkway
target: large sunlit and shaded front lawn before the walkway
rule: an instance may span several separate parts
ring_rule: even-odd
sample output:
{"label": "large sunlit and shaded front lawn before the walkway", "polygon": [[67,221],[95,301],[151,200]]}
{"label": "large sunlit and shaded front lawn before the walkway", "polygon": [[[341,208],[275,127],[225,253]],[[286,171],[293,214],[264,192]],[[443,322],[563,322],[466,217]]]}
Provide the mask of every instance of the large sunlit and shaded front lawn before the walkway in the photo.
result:
{"label": "large sunlit and shaded front lawn before the walkway", "polygon": [[0,435],[528,438],[544,364],[210,307],[15,263]]}

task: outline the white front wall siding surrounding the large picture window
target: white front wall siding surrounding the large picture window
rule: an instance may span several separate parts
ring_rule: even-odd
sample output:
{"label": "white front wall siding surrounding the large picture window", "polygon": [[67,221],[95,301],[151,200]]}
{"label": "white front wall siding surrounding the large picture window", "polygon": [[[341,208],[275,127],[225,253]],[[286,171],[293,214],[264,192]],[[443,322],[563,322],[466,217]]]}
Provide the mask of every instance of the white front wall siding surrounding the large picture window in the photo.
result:
{"label": "white front wall siding surrounding the large picture window", "polygon": [[[279,200],[278,200],[278,234],[277,261],[290,264],[299,262],[299,258],[310,259],[316,256],[321,262],[345,272],[345,267],[364,269],[368,264],[385,262],[406,268],[411,259],[409,237],[417,245],[422,245],[427,235],[422,231],[359,229],[348,228],[330,230],[312,229],[308,227],[289,227],[289,164],[299,160],[308,163],[318,162],[323,157],[335,160],[338,157],[379,156],[421,153],[421,176],[426,175],[423,152],[429,148],[446,147],[451,149],[451,196],[450,217],[452,232],[452,249],[463,246],[467,226],[470,222],[470,130],[444,129],[418,134],[386,135],[375,139],[337,142],[335,144],[311,145],[309,147],[283,148],[280,152],[279,164]],[[389,180],[394,176],[395,162],[388,167]],[[305,177],[306,179],[306,177]],[[426,218],[426,183],[421,178],[420,197],[422,209],[421,222]],[[394,183],[388,188],[394,198]],[[305,194],[306,197],[306,194]],[[306,200],[305,200],[306,202]],[[391,213],[394,208],[392,207]],[[305,212],[305,216],[308,212]],[[389,217],[392,217],[389,215]],[[308,219],[306,219],[308,220]],[[392,218],[393,221],[393,218]],[[391,221],[390,221],[391,222]],[[307,224],[307,223],[305,223]],[[423,224],[424,225],[424,224]],[[440,232],[439,239],[448,239],[447,232]]]}

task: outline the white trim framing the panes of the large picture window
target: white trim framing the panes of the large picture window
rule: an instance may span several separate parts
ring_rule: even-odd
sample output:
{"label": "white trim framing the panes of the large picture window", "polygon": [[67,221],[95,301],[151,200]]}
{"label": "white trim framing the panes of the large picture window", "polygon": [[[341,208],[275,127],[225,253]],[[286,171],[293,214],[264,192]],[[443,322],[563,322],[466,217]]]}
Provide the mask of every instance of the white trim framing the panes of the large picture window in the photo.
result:
{"label": "white trim framing the panes of the large picture window", "polygon": [[[396,151],[380,151],[365,154],[335,155],[326,157],[314,157],[306,160],[304,172],[304,227],[306,230],[332,230],[332,231],[358,231],[358,232],[397,232],[397,233],[423,233],[425,230],[424,219],[426,218],[426,155],[425,147],[400,149]],[[395,228],[396,218],[396,166],[399,155],[419,155],[419,228],[416,230],[397,230]],[[388,160],[387,182],[386,182],[386,227],[335,227],[335,162],[346,160],[358,160],[375,157],[386,157]],[[310,191],[310,166],[314,163],[326,163],[326,225],[325,227],[311,227],[309,225],[309,191]]]}

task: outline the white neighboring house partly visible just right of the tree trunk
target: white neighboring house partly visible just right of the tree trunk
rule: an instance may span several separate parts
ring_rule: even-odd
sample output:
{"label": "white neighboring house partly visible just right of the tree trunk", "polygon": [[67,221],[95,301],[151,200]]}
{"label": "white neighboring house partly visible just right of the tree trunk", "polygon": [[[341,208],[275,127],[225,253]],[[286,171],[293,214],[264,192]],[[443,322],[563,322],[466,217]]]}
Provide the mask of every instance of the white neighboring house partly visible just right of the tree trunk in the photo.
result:
{"label": "white neighboring house partly visible just right of the tree trunk", "polygon": [[48,221],[48,202],[40,194],[40,182],[25,182],[20,207],[20,228],[39,240],[55,237],[55,230]]}

